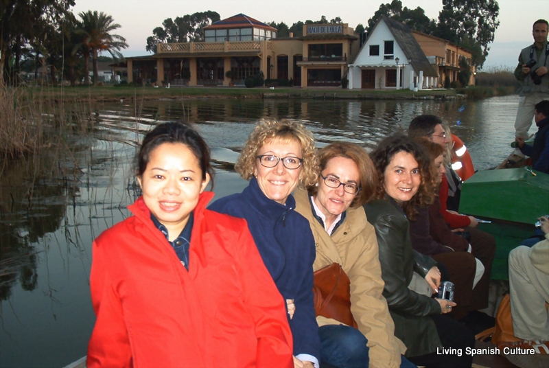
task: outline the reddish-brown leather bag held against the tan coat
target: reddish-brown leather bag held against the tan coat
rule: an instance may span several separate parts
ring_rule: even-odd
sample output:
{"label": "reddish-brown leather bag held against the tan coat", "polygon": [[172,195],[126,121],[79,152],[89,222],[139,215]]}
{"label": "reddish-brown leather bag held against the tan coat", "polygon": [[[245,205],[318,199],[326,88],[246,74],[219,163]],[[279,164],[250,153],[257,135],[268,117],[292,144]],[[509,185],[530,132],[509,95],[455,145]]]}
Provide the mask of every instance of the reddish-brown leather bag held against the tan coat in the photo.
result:
{"label": "reddish-brown leather bag held against the tan coat", "polygon": [[333,263],[314,273],[313,293],[317,316],[358,328],[351,313],[351,282],[340,264]]}

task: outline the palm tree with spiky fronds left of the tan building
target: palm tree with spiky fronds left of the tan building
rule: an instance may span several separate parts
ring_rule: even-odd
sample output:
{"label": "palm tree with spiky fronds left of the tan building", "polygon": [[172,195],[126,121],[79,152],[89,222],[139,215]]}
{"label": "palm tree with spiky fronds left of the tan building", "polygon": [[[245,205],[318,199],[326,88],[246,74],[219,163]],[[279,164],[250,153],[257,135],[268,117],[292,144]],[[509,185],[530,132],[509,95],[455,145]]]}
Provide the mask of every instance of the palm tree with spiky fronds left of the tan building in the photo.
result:
{"label": "palm tree with spiky fronds left of the tan building", "polygon": [[[93,85],[97,84],[97,57],[100,51],[108,51],[113,58],[121,58],[120,49],[126,49],[128,44],[126,38],[118,34],[110,34],[114,30],[120,28],[118,23],[114,23],[113,17],[104,12],[98,13],[97,10],[92,12],[80,12],[78,14],[82,22],[80,22],[80,31],[82,34],[82,47],[91,51],[93,60]],[[84,52],[84,60],[86,61],[86,69],[88,67]],[[87,78],[87,77],[86,77]]]}

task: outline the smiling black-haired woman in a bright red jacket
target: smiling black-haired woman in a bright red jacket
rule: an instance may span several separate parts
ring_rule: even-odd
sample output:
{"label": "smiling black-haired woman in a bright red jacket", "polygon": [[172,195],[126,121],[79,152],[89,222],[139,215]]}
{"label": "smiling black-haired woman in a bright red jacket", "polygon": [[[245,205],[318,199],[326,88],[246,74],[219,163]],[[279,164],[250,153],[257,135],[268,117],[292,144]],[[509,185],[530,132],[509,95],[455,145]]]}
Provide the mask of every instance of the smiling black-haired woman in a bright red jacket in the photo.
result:
{"label": "smiling black-haired woman in a bright red jacket", "polygon": [[88,367],[293,367],[285,302],[246,222],[205,207],[209,148],[161,124],[137,159],[133,216],[93,242]]}

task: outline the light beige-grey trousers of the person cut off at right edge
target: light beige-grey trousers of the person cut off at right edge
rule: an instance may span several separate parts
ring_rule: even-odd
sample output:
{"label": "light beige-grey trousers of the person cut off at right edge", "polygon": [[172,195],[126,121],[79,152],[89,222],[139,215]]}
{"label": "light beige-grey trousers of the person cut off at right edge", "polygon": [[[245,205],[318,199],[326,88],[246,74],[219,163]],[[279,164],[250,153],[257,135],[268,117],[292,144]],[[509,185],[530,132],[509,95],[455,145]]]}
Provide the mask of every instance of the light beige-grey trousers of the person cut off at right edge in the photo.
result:
{"label": "light beige-grey trousers of the person cut off at right edge", "polygon": [[530,251],[521,245],[509,253],[513,331],[524,340],[549,341],[549,275],[533,266]]}

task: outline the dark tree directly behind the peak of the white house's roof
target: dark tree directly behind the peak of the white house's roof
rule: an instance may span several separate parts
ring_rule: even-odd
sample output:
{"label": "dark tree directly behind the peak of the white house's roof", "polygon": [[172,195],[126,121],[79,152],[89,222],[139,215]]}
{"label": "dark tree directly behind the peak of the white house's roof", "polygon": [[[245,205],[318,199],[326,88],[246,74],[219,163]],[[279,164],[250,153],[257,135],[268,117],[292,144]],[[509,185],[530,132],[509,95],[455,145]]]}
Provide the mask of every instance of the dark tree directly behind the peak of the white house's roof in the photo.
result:
{"label": "dark tree directly behind the peak of the white house's roof", "polygon": [[368,32],[373,30],[374,25],[381,19],[382,16],[388,16],[402,23],[406,23],[412,30],[432,34],[436,27],[436,21],[429,19],[425,15],[425,10],[419,6],[415,9],[402,8],[402,1],[393,0],[391,3],[379,5],[379,9],[368,20]]}

